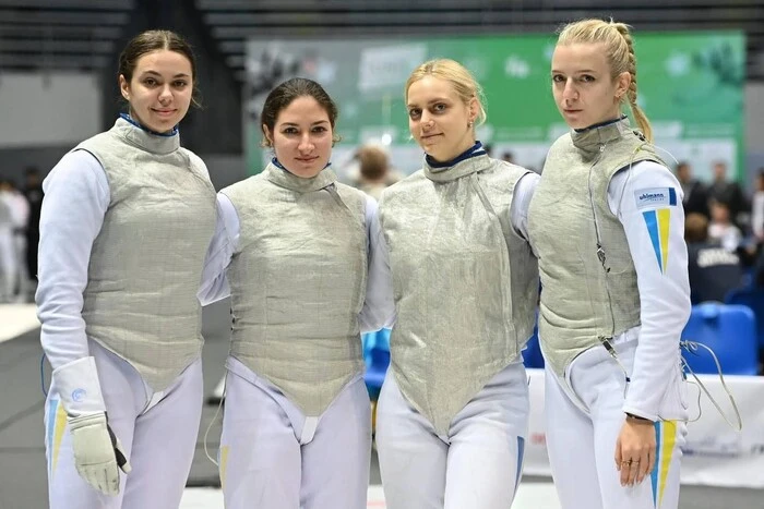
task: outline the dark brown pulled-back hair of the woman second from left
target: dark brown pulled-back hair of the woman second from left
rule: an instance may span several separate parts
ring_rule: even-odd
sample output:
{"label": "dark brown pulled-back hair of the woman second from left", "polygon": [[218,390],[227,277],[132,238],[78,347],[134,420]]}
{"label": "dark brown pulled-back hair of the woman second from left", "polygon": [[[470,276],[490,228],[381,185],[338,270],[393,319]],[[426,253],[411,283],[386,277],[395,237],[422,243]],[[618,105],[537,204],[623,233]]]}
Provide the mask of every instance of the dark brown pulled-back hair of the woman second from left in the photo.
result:
{"label": "dark brown pulled-back hair of the woman second from left", "polygon": [[[334,124],[337,121],[338,114],[337,105],[334,102],[334,100],[332,100],[329,94],[326,94],[326,90],[324,90],[324,88],[313,80],[308,80],[307,77],[293,77],[291,80],[287,80],[271,90],[265,98],[263,111],[260,114],[260,129],[263,132],[263,147],[272,146],[263,126],[266,126],[268,131],[273,133],[276,126],[278,113],[280,113],[282,110],[287,108],[295,99],[299,97],[312,97],[315,99],[319,106],[326,111],[326,116],[329,116],[329,123],[332,125],[332,131],[334,132]],[[333,141],[338,142],[339,136],[334,134]]]}

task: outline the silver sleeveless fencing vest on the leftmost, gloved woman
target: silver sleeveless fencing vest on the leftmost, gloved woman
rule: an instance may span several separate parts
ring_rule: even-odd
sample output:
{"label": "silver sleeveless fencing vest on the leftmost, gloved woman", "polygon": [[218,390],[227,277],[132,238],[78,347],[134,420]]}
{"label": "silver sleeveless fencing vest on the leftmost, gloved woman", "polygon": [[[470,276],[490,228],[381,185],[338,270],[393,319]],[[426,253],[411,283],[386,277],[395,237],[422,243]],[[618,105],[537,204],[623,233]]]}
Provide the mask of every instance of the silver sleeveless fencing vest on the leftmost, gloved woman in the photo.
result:
{"label": "silver sleeveless fencing vest on the leftmost, gloved woman", "polygon": [[215,189],[178,134],[150,134],[124,119],[74,150],[98,159],[110,192],[91,253],[85,331],[164,390],[202,351],[196,292]]}

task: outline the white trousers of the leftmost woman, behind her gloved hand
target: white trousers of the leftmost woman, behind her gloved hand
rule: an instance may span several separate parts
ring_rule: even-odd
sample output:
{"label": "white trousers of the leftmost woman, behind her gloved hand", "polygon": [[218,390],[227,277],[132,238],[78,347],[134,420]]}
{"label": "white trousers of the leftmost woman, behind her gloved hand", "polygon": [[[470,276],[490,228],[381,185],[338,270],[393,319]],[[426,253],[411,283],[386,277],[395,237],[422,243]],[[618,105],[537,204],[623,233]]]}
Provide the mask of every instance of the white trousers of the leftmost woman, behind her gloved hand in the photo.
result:
{"label": "white trousers of the leftmost woman, behind her gloved hand", "polygon": [[169,509],[191,470],[202,415],[202,361],[196,360],[163,392],[153,392],[128,362],[88,341],[98,367],[109,426],[119,437],[132,472],[120,471],[119,495],[85,483],[74,468],[71,435],[58,389],[45,405],[50,509]]}

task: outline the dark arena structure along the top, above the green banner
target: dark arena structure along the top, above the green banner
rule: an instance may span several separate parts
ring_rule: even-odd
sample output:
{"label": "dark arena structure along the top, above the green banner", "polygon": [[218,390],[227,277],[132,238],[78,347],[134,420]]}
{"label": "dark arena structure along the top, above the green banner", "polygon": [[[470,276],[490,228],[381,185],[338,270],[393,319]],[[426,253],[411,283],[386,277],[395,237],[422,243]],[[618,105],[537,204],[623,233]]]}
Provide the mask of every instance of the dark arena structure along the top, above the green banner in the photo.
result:
{"label": "dark arena structure along the top, above the green banner", "polygon": [[764,81],[764,1],[752,0],[0,0],[0,70],[103,68],[139,9],[191,9],[238,78],[248,37],[552,33],[585,16],[638,31],[742,29]]}

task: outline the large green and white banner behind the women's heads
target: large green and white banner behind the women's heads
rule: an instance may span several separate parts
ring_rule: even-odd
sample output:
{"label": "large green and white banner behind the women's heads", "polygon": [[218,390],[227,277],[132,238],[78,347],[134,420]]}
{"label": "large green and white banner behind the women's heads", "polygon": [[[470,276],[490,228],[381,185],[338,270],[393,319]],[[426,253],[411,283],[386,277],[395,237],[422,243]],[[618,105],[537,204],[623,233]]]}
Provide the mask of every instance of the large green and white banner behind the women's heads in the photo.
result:
{"label": "large green and white banner behind the women's heads", "polygon": [[[540,169],[550,144],[568,130],[551,95],[553,35],[347,39],[247,44],[247,156],[250,173],[270,154],[260,148],[259,114],[271,88],[293,76],[321,83],[339,106],[343,142],[332,160],[343,177],[365,143],[387,147],[404,173],[420,167],[421,149],[410,140],[403,87],[410,72],[432,58],[468,68],[486,94],[488,122],[478,138],[494,157]],[[637,33],[640,105],[653,123],[656,143],[673,158],[689,160],[702,179],[713,162],[742,172],[745,40],[740,32]],[[671,160],[671,156],[665,155]]]}

